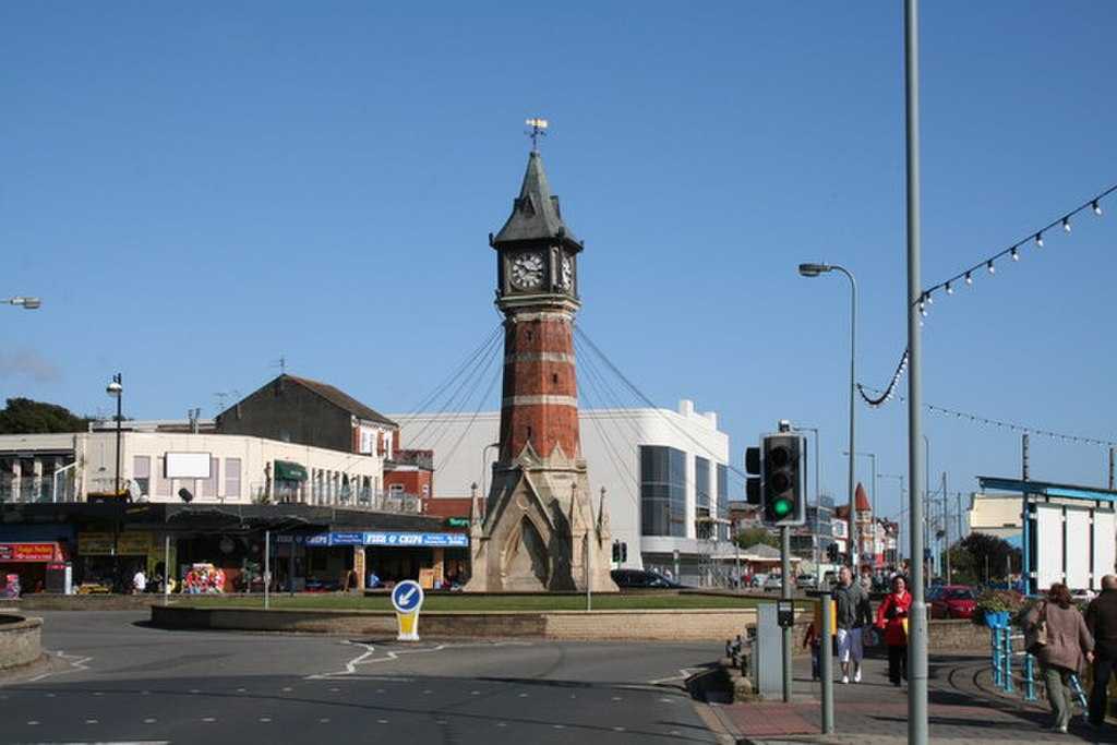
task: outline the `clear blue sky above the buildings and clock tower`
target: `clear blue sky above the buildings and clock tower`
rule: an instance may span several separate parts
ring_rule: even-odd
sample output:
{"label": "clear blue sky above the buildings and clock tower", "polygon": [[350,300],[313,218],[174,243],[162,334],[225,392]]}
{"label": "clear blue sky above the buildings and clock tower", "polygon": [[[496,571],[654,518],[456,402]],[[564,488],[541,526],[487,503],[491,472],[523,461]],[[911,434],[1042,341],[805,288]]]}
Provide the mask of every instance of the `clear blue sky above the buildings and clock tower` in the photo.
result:
{"label": "clear blue sky above the buildings and clock tower", "polygon": [[[923,10],[924,275],[945,278],[1117,182],[1101,1]],[[401,7],[405,6],[405,7]],[[7,3],[0,394],[206,413],[285,355],[409,410],[491,329],[495,260],[543,115],[586,241],[581,324],[652,399],[719,412],[739,459],[822,429],[841,493],[848,289],[860,379],[904,347],[903,3]],[[1117,199],[936,303],[929,403],[1117,438]],[[906,470],[901,405],[859,449]],[[933,478],[1013,475],[1019,434],[927,418]],[[868,481],[868,460],[859,474]],[[1032,441],[1037,478],[1106,453]],[[890,512],[895,483],[879,499]]]}

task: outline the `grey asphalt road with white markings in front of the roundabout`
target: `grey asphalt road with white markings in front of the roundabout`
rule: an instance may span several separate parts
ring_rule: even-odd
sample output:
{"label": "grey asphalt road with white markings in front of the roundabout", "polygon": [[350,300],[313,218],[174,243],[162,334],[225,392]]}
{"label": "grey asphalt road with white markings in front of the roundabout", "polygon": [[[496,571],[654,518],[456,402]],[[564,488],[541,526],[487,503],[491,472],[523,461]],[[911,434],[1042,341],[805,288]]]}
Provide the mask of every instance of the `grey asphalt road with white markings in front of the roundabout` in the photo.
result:
{"label": "grey asphalt road with white markings in front of the roundabout", "polygon": [[0,742],[718,742],[679,687],[717,643],[405,646],[37,615],[61,663],[0,687]]}

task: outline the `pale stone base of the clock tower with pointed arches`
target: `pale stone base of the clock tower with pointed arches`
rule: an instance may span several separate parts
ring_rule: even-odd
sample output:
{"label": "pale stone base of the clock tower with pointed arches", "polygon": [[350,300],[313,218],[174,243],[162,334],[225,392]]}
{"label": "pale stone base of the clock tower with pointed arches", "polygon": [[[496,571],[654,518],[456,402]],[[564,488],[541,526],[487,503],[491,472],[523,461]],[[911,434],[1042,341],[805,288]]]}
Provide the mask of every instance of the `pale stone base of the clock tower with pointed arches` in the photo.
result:
{"label": "pale stone base of the clock tower with pointed arches", "polygon": [[584,461],[525,448],[494,474],[488,505],[474,522],[466,592],[617,592],[609,516],[601,505],[594,518]]}

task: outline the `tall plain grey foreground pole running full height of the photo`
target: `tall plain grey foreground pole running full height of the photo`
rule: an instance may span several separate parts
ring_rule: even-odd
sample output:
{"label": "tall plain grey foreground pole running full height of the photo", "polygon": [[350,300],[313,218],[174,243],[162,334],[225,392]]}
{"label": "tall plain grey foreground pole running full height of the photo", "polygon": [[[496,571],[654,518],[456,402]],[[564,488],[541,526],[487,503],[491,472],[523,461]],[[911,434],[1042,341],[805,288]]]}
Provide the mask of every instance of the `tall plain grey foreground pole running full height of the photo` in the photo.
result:
{"label": "tall plain grey foreground pole running full height of the photo", "polygon": [[[923,294],[919,246],[919,2],[904,6],[904,98],[906,109],[907,165],[907,312],[908,325],[908,472],[914,483],[923,466],[919,440],[923,438],[923,348],[918,311]],[[853,443],[849,443],[853,449]],[[927,600],[924,592],[920,535],[923,502],[911,489],[908,496],[911,527],[911,615],[908,628],[908,743],[927,745]],[[827,640],[829,641],[829,640]]]}

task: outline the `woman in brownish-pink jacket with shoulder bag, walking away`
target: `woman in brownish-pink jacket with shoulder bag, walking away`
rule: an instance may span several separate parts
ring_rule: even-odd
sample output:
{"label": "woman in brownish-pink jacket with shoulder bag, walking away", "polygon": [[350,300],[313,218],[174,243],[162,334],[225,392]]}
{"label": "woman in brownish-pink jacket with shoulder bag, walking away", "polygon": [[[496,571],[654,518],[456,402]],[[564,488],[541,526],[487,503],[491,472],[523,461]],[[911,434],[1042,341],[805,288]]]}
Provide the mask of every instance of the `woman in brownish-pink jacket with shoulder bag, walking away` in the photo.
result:
{"label": "woman in brownish-pink jacket with shoulder bag, walking away", "polygon": [[1047,642],[1040,647],[1035,659],[1043,671],[1048,700],[1054,714],[1051,728],[1066,734],[1073,710],[1070,676],[1081,672],[1083,661],[1094,660],[1094,637],[1086,627],[1086,619],[1075,608],[1067,585],[1060,582],[1052,584],[1047,599],[1032,605],[1024,615],[1025,630],[1040,623],[1047,625]]}

